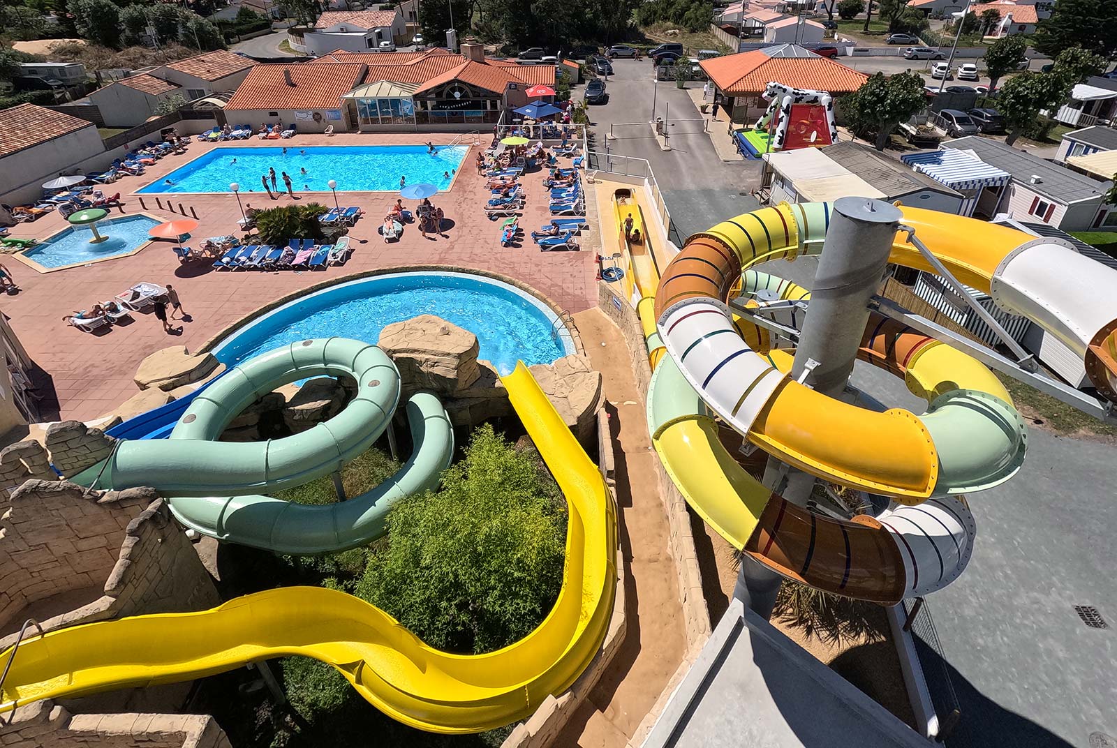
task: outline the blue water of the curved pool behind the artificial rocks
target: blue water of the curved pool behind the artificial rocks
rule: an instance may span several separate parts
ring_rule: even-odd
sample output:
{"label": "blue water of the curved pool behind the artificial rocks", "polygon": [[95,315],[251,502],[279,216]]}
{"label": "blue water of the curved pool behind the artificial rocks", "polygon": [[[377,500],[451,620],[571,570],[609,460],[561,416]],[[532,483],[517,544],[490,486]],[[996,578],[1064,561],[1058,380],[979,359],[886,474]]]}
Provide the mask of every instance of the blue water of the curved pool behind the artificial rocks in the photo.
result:
{"label": "blue water of the curved pool behind the artificial rocks", "polygon": [[477,336],[478,357],[508,374],[521,359],[550,364],[575,353],[569,330],[534,296],[464,272],[398,272],[324,288],[255,319],[213,348],[232,366],[296,341],[350,337],[375,344],[384,326],[432,314]]}

